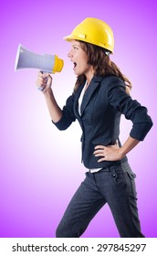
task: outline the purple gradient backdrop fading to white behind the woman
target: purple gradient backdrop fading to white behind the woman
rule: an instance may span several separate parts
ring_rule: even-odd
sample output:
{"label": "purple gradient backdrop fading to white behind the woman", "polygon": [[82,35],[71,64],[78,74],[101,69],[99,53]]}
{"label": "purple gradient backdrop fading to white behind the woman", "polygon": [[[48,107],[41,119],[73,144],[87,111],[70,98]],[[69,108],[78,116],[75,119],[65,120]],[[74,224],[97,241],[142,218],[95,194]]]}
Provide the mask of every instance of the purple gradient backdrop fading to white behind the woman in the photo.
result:
{"label": "purple gradient backdrop fading to white behind the woman", "polygon": [[[87,16],[103,19],[115,35],[112,60],[132,81],[132,97],[148,107],[153,127],[130,154],[137,174],[141,227],[157,237],[156,59],[157,3],[145,1],[9,1],[0,7],[0,237],[55,237],[55,229],[85,168],[80,164],[80,128],[66,132],[51,124],[37,69],[15,72],[21,43],[37,53],[65,60],[54,75],[54,91],[62,106],[76,80],[62,38]],[[122,119],[121,141],[131,123]],[[83,237],[119,237],[110,209],[102,208]]]}

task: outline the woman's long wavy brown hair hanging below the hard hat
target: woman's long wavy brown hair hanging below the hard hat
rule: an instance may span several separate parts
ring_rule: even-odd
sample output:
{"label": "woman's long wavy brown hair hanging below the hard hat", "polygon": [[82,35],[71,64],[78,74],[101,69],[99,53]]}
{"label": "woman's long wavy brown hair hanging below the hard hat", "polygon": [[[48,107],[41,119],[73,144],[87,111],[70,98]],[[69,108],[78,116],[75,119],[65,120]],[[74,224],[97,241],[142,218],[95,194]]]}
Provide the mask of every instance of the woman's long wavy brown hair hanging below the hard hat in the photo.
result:
{"label": "woman's long wavy brown hair hanging below the hard hat", "polygon": [[[115,75],[125,82],[126,91],[130,94],[131,91],[131,81],[128,80],[117,67],[117,65],[110,60],[110,52],[105,48],[100,48],[98,46],[78,41],[80,47],[86,52],[88,56],[88,64],[94,69],[94,75],[96,76],[110,76]],[[86,80],[85,75],[79,75],[76,81],[74,92],[78,90],[79,85]]]}

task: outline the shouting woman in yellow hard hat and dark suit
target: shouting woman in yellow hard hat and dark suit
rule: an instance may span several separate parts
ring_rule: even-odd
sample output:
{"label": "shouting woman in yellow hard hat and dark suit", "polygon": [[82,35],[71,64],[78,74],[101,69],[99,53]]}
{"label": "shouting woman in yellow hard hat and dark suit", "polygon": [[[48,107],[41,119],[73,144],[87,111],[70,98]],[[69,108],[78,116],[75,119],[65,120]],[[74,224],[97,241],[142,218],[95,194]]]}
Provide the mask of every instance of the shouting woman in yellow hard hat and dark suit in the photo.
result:
{"label": "shouting woman in yellow hard hat and dark suit", "polygon": [[[63,110],[51,89],[49,74],[38,74],[52,122],[65,130],[78,119],[82,129],[82,162],[88,168],[61,219],[57,237],[77,238],[106,203],[120,237],[144,237],[137,208],[135,174],[127,154],[152,127],[147,109],[130,96],[131,82],[110,60],[114,39],[111,28],[96,18],[86,18],[65,37],[71,43],[68,58],[78,79]],[[120,144],[120,115],[131,120],[132,129]]]}

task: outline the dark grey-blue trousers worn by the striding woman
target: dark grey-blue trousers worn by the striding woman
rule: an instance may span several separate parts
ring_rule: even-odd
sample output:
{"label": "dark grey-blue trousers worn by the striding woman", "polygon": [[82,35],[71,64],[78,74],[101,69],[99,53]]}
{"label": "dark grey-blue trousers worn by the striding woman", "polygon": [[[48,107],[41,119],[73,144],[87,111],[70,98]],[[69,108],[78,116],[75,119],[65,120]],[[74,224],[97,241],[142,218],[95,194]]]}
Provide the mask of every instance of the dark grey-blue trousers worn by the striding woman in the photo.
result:
{"label": "dark grey-blue trousers worn by the striding woman", "polygon": [[143,238],[137,208],[135,174],[128,163],[86,173],[68,204],[57,238],[78,238],[100,208],[108,203],[120,237]]}

